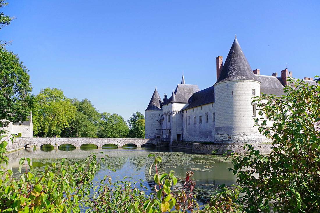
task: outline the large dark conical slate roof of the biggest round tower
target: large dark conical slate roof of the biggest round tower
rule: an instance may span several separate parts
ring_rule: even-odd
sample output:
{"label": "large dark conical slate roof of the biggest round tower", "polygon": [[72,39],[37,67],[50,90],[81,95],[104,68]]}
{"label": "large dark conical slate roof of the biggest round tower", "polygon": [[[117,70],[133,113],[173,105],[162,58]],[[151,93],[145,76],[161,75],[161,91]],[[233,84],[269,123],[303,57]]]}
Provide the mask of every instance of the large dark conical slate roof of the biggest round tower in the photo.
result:
{"label": "large dark conical slate roof of the biggest round tower", "polygon": [[252,69],[242,52],[237,38],[233,42],[226,62],[216,83],[230,80],[257,80]]}

